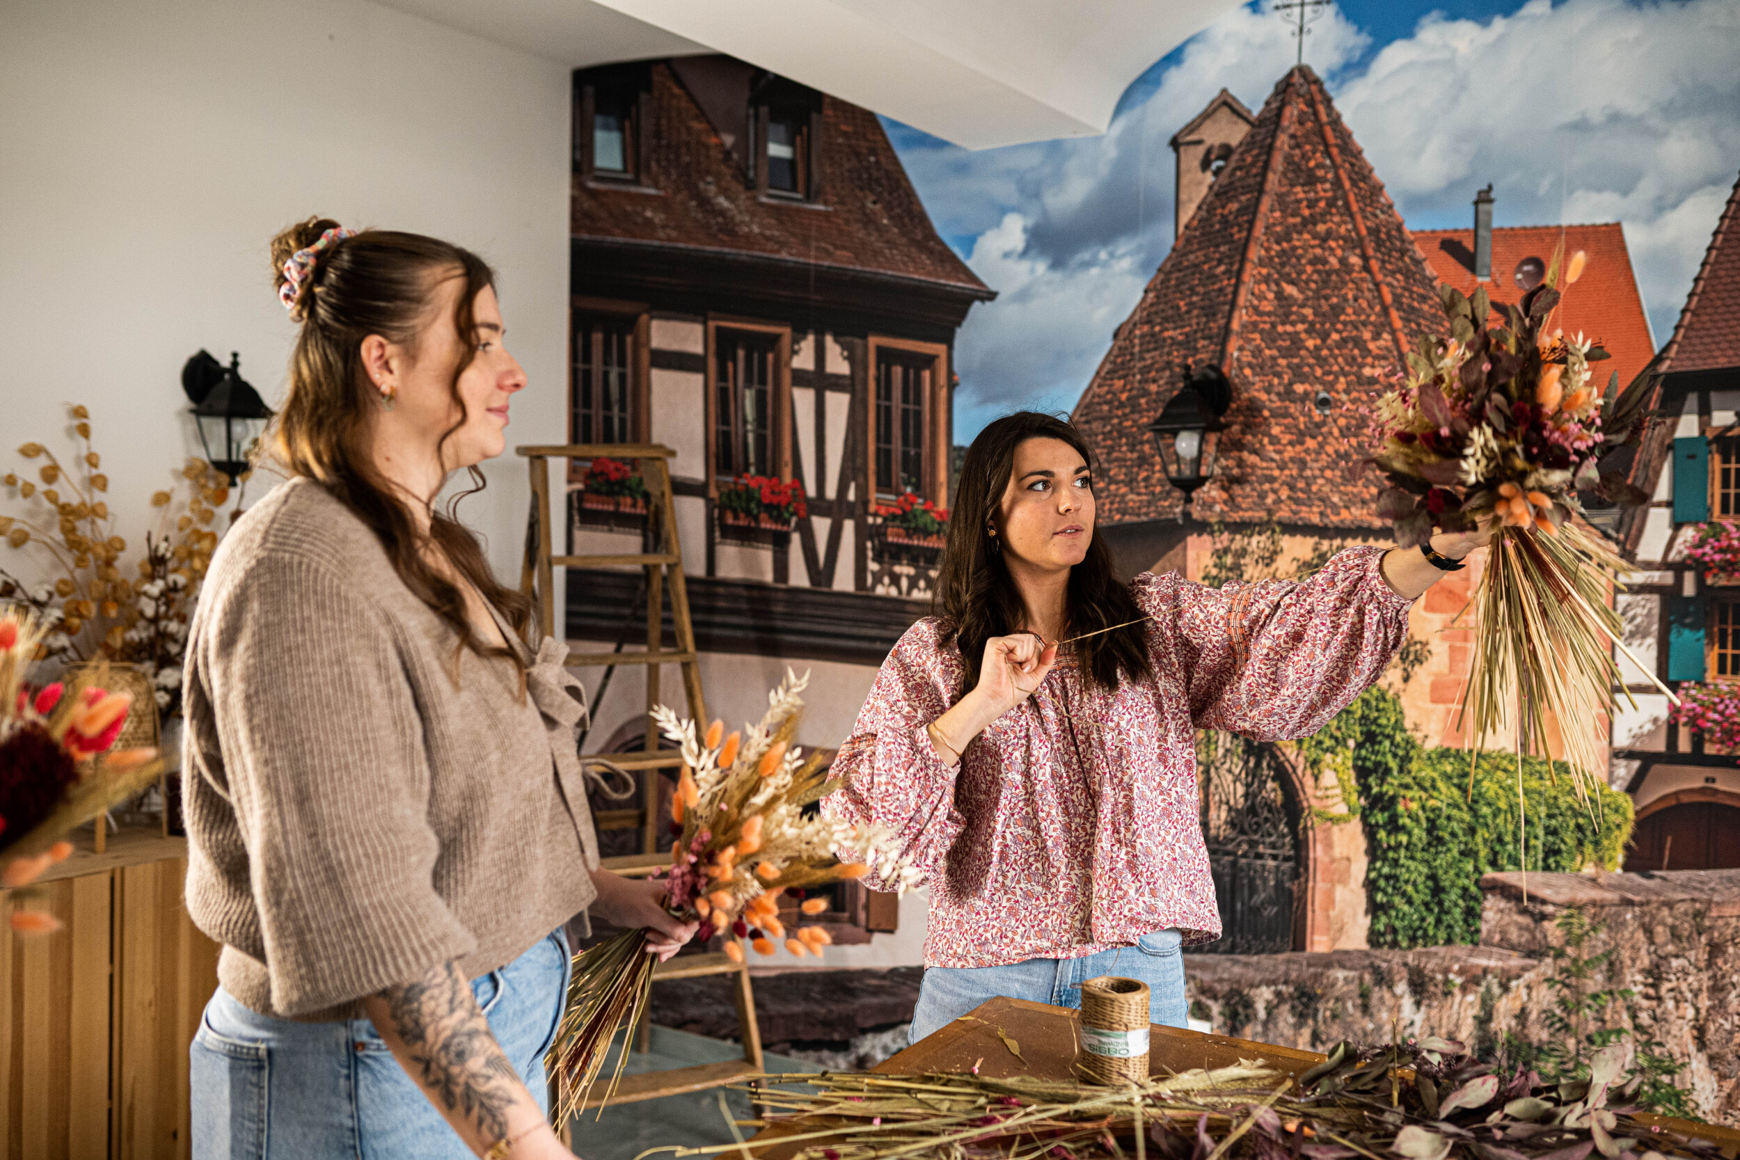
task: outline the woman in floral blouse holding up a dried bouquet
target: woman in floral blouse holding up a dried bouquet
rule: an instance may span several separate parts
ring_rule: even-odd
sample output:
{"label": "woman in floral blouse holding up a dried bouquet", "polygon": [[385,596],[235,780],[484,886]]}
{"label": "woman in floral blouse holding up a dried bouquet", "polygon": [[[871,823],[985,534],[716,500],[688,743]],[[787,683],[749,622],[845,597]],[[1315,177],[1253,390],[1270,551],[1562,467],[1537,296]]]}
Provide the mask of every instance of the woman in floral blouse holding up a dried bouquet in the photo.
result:
{"label": "woman in floral blouse holding up a dried bouquet", "polygon": [[1021,412],[967,449],[934,616],[882,663],[825,809],[887,826],[931,887],[912,1042],[1007,995],[1150,986],[1185,1026],[1185,944],[1220,937],[1197,729],[1303,737],[1368,685],[1408,607],[1484,532],[1348,548],[1302,583],[1117,579],[1093,456]]}

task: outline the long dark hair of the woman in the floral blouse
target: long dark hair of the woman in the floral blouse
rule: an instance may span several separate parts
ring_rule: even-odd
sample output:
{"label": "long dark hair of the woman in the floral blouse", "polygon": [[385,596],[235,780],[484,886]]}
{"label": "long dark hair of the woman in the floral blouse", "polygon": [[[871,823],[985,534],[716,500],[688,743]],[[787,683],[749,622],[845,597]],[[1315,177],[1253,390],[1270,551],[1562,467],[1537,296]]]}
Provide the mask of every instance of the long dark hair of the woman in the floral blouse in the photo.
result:
{"label": "long dark hair of the woman in the floral blouse", "polygon": [[[1093,468],[1093,452],[1081,433],[1054,416],[1020,410],[997,419],[967,447],[960,464],[960,485],[948,515],[948,546],[936,577],[933,610],[945,623],[945,640],[954,640],[966,664],[962,692],[980,678],[985,642],[1007,637],[1021,624],[1021,595],[987,530],[1014,471],[1014,449],[1030,438],[1056,438],[1074,447]],[[1105,546],[1094,522],[1088,557],[1070,569],[1067,624],[1072,637],[1141,617],[1129,584],[1117,579],[1112,550]],[[1075,657],[1084,683],[1115,689],[1122,680],[1147,680],[1147,624],[1128,624],[1075,643]]]}

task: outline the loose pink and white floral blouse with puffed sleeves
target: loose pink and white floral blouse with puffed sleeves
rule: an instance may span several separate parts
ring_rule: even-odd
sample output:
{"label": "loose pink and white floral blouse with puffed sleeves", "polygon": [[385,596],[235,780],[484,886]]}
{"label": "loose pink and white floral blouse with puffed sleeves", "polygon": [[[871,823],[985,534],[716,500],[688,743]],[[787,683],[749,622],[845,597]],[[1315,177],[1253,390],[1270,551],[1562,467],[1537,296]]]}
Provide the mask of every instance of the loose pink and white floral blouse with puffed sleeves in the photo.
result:
{"label": "loose pink and white floral blouse with puffed sleeves", "polygon": [[954,769],[926,725],[960,697],[964,670],[926,617],[882,663],[823,809],[887,826],[924,871],[926,965],[1077,958],[1168,927],[1211,943],[1194,730],[1303,737],[1376,682],[1411,603],[1382,557],[1350,548],[1307,581],[1225,588],[1145,572],[1131,590],[1154,617],[1154,680],[1089,690],[1065,652]]}

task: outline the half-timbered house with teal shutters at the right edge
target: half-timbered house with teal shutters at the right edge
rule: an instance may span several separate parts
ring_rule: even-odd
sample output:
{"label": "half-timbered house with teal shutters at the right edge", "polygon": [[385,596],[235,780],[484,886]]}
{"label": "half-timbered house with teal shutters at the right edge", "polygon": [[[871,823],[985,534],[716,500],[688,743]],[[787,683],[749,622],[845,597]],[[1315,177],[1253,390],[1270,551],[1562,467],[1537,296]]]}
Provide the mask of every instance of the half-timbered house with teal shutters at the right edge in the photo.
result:
{"label": "half-timbered house with teal shutters at the right edge", "polygon": [[[1632,464],[1632,483],[1651,501],[1616,520],[1637,567],[1618,607],[1637,659],[1707,708],[1676,722],[1667,697],[1620,657],[1637,701],[1613,720],[1615,784],[1637,809],[1625,868],[1735,868],[1740,537],[1723,532],[1740,523],[1740,183],[1651,370],[1662,376],[1655,405],[1665,417]],[[1688,557],[1700,539],[1703,546]]]}

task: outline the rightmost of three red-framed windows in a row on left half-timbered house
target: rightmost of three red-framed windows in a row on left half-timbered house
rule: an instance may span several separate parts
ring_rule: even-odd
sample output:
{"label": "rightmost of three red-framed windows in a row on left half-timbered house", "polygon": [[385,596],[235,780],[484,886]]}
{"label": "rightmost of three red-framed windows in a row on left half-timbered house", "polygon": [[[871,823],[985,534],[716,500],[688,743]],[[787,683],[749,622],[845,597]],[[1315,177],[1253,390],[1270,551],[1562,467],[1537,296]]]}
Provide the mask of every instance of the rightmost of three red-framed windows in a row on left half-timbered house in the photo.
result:
{"label": "rightmost of three red-framed windows in a row on left half-timbered house", "polygon": [[870,339],[870,478],[877,496],[948,506],[948,348]]}

